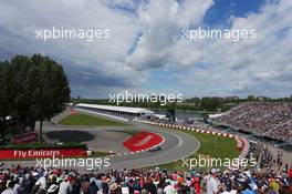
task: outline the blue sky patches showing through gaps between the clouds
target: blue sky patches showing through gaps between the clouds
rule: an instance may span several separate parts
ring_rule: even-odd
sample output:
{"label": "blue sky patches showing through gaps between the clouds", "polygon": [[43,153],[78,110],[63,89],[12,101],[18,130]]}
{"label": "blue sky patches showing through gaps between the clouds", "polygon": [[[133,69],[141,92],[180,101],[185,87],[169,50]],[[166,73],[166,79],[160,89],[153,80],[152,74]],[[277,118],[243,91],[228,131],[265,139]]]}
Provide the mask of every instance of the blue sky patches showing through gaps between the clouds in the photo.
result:
{"label": "blue sky patches showing through gaps between the clouds", "polygon": [[[179,1],[178,1],[179,2]],[[182,1],[180,1],[182,2]],[[267,1],[264,0],[215,0],[213,6],[211,6],[204,17],[201,25],[210,28],[225,28],[229,29],[230,23],[228,20],[230,17],[240,17],[244,18],[248,13],[257,13],[260,11],[261,6]],[[137,35],[140,37],[140,33]],[[135,47],[137,44],[135,39]],[[131,50],[133,52],[133,48]],[[199,69],[211,68],[211,63],[199,61],[194,64],[194,67]],[[180,89],[179,84],[176,84],[174,80],[169,76],[171,72],[169,71],[152,71],[152,79],[146,83],[146,88],[154,88],[155,90],[165,90],[165,89]],[[181,72],[184,73],[184,72]]]}

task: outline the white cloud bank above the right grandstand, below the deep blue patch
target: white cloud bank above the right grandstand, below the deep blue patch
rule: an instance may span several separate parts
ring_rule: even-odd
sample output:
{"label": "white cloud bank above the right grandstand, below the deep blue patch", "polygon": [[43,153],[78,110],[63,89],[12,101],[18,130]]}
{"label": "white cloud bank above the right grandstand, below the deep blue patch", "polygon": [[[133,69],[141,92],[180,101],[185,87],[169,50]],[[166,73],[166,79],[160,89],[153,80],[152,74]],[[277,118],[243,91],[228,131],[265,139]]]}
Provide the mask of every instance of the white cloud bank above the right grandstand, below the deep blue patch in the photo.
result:
{"label": "white cloud bank above the right grandstand, below the deep blue patch", "polygon": [[[247,18],[233,18],[231,29],[257,29],[257,38],[239,42],[220,39],[211,44],[189,47],[192,51],[188,55],[202,54],[197,61],[194,58],[194,63],[204,60],[212,65],[208,70],[191,68],[179,79],[198,94],[289,95],[292,91],[292,79],[289,79],[292,78],[291,11],[291,1],[280,1],[263,6],[259,13]],[[206,88],[196,90],[201,84],[198,80]]]}

